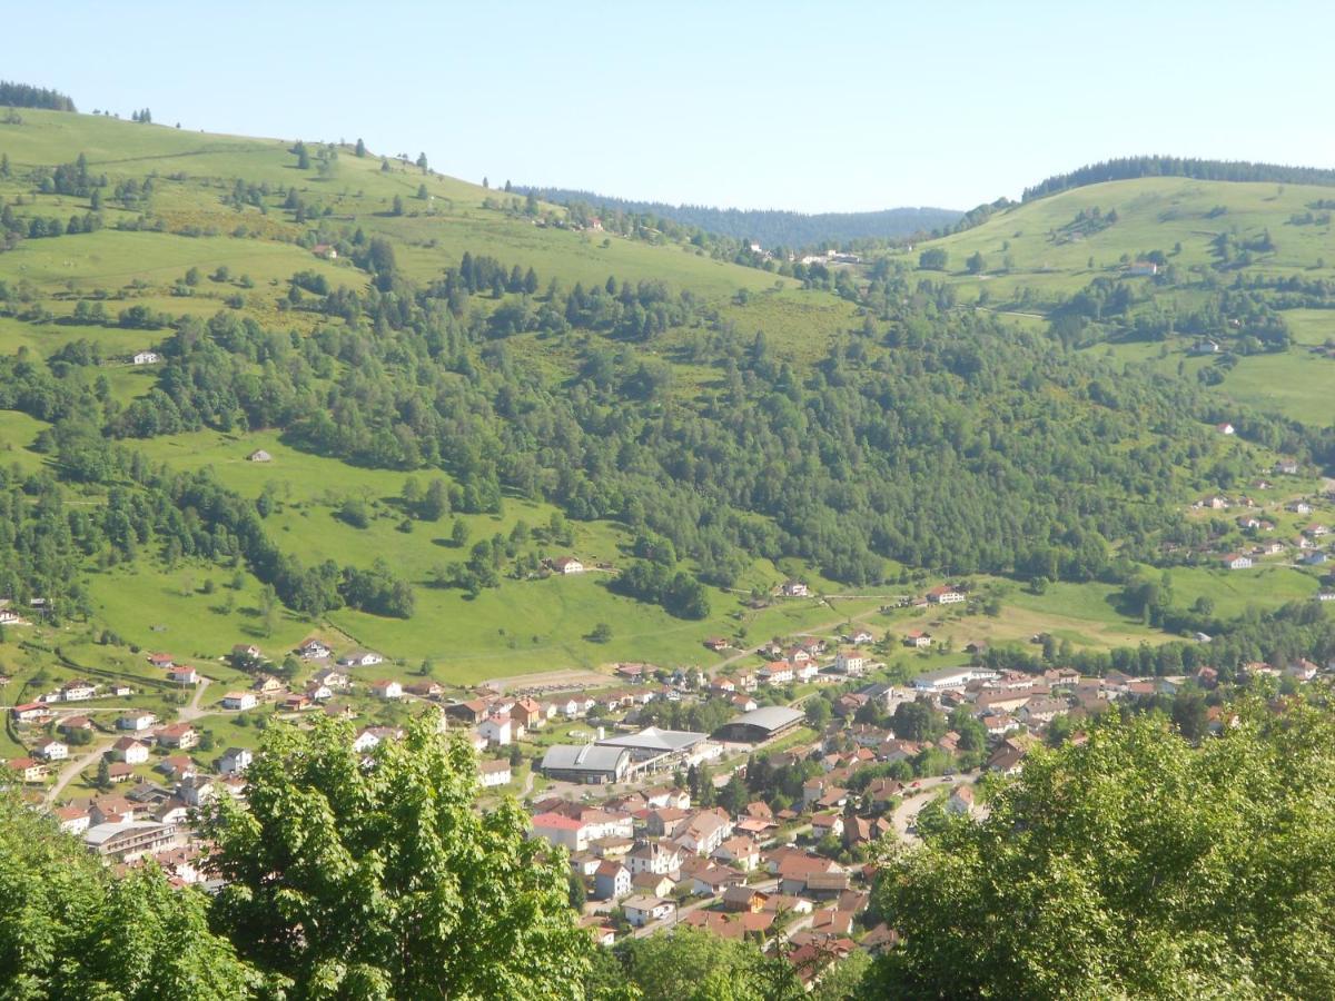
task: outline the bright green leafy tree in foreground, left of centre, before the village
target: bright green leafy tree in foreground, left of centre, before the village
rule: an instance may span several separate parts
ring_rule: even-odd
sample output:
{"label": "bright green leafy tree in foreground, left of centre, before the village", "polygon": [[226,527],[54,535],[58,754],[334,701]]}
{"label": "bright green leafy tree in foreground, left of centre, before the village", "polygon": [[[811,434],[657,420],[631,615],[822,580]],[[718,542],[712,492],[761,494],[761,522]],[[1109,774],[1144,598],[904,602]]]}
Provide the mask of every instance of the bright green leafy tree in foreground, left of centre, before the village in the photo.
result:
{"label": "bright green leafy tree in foreground, left of centre, before the village", "polygon": [[474,809],[477,759],[417,721],[363,761],[351,727],[271,727],[204,829],[212,917],[294,997],[575,998],[591,942],[566,864],[513,799]]}

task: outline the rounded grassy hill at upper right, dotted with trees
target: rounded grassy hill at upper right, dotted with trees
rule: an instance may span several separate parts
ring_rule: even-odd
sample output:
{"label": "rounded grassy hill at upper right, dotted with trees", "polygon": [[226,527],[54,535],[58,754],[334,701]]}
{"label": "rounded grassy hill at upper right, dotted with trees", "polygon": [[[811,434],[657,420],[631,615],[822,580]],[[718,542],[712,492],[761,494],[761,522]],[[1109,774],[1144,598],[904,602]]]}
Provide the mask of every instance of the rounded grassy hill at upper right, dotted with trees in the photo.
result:
{"label": "rounded grassy hill at upper right, dotted with trees", "polygon": [[[1235,400],[1328,426],[1335,367],[1320,350],[1335,338],[1332,207],[1335,190],[1320,186],[1119,180],[1015,206],[892,260],[918,268],[924,251],[944,251],[945,270],[921,274],[940,276],[961,303],[1067,327],[1093,322],[1077,343],[1112,343],[1119,359],[1197,376],[1220,407]],[[1131,271],[1149,259],[1157,274]],[[1192,352],[1202,338],[1218,355]]]}

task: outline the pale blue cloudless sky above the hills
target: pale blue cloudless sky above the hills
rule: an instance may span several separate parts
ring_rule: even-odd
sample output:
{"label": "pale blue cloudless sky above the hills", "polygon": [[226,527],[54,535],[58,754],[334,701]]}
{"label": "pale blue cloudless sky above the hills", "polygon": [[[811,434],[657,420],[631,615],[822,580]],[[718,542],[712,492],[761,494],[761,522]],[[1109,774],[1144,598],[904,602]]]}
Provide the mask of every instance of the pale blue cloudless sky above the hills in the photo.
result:
{"label": "pale blue cloudless sky above the hills", "polygon": [[[493,183],[969,208],[1129,153],[1335,165],[1335,3],[135,3],[5,12],[81,111]],[[29,40],[29,41],[25,41]]]}

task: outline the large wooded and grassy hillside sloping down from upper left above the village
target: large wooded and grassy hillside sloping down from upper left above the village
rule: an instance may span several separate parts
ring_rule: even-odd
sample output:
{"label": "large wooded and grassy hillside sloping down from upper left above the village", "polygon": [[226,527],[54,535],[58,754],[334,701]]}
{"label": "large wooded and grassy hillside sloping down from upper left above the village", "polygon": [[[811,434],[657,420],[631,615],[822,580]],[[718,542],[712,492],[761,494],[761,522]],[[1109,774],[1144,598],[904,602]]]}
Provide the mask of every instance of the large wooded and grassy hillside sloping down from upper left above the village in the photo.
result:
{"label": "large wooded and grassy hillside sloping down from upper left above the village", "polygon": [[[379,623],[462,610],[449,595],[581,541],[619,570],[585,629],[710,618],[786,561],[846,587],[1123,582],[1199,546],[1184,502],[1255,467],[1200,380],[1069,351],[1060,316],[960,308],[948,271],[776,276],[425,157],[40,115],[0,129],[0,407],[36,422],[0,565],[57,621],[128,630],[112,579],[232,565],[299,618],[351,610],[435,657]],[[236,442],[232,464],[179,466],[202,432]],[[1246,435],[1328,448],[1260,414]],[[287,535],[311,511],[234,464],[246,440],[346,470],[327,530]],[[354,470],[394,479],[339,490]],[[368,545],[380,519],[399,534]],[[435,557],[392,558],[434,525]]]}

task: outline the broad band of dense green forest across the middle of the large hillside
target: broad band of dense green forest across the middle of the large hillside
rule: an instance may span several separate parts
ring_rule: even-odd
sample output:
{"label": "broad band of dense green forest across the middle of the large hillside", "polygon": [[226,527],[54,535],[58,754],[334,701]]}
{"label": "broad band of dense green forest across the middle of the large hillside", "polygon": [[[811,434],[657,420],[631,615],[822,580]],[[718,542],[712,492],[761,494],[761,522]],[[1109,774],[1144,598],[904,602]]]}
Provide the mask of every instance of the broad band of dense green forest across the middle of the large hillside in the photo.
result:
{"label": "broad band of dense green forest across the middle of the large hillside", "polygon": [[[53,422],[44,447],[76,482],[120,482],[132,464],[99,447],[103,436],[282,428],[347,462],[449,471],[451,510],[498,511],[518,495],[618,519],[658,554],[627,567],[622,590],[688,618],[708,614],[694,581],[732,586],[754,557],[801,557],[850,585],[886,581],[888,559],[1120,581],[1129,559],[1161,562],[1161,541],[1193,541],[1176,514],[1189,484],[1227,487],[1250,471],[1214,455],[1216,415],[1199,382],[1128,378],[1052,334],[955,310],[930,280],[882,271],[845,290],[862,326],[798,371],[762,331],[742,334],[661,282],[563,290],[465,255],[415,286],[388,243],[356,231],[339,247],[372,286],[294,275],[287,307],[324,320],[310,336],[234,311],[202,320],[131,307],[104,320],[160,330],[152,391],[111,399],[88,378],[96,346],[76,342],[47,364],[0,359],[0,406]],[[534,344],[563,359],[565,376],[523,364]],[[712,374],[690,392],[686,364]],[[1298,424],[1234,419],[1290,454],[1324,448]],[[259,542],[252,510],[219,510],[291,607],[411,613],[392,575],[302,567]]]}

